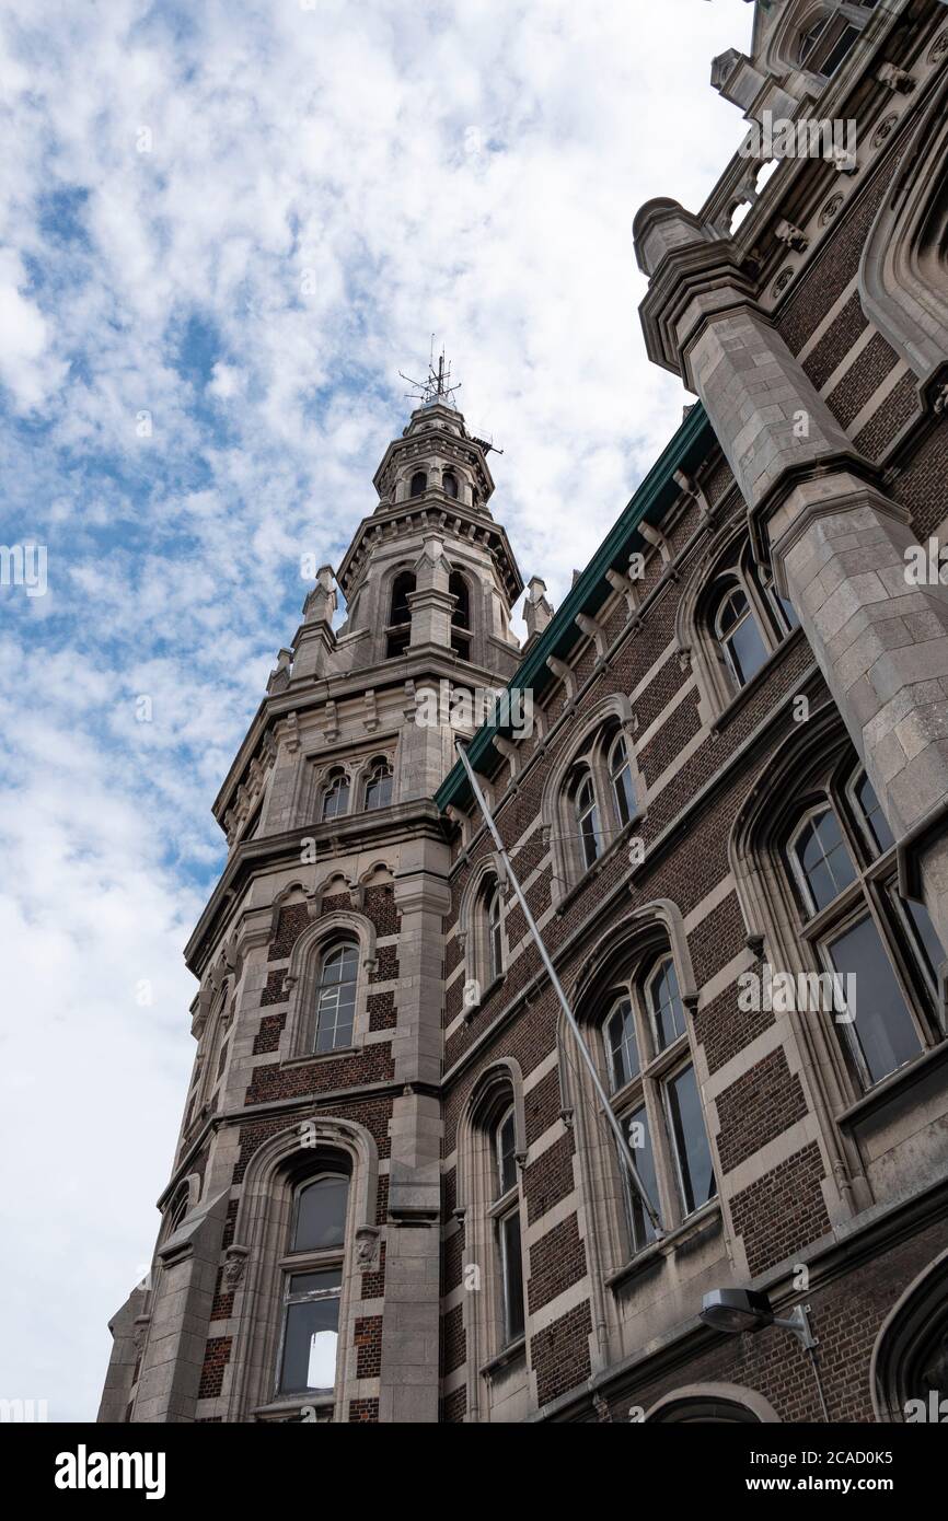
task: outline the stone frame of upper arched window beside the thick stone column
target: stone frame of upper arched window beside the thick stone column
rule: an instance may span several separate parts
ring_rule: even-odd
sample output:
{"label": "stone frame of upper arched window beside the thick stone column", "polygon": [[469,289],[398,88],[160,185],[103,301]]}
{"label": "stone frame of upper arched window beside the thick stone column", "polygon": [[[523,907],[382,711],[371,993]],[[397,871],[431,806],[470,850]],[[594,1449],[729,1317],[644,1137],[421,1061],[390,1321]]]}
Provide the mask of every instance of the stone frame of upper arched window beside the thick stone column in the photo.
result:
{"label": "stone frame of upper arched window beside the thick stone column", "polygon": [[[735,589],[744,593],[765,649],[764,663],[743,686],[733,675],[717,633],[718,610]],[[747,694],[756,691],[764,672],[797,628],[799,621],[791,622],[773,580],[765,580],[753,558],[746,523],[741,520],[724,526],[695,564],[676,613],[679,660],[694,675],[700,721],[714,729],[736,710]]]}

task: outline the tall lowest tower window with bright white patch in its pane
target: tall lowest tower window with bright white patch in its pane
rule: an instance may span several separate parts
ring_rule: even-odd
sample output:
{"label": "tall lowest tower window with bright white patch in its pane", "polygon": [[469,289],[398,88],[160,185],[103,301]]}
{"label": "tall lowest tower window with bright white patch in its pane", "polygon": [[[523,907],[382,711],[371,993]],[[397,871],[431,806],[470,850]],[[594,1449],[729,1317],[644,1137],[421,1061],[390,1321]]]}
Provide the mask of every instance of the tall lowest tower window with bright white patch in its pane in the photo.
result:
{"label": "tall lowest tower window with bright white patch in its pane", "polygon": [[329,1392],[336,1383],[339,1297],[348,1179],[326,1173],[303,1183],[283,1273],[278,1395]]}

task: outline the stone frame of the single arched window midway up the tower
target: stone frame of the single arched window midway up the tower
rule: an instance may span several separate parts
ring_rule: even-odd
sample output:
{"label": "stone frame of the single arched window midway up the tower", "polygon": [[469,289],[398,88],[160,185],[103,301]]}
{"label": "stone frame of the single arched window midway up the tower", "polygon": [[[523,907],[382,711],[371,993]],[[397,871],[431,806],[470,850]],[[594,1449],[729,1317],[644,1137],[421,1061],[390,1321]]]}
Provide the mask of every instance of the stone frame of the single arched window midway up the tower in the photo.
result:
{"label": "stone frame of the single arched window midway up the tower", "polygon": [[[359,948],[352,1045],[339,1046],[335,1051],[315,1051],[317,993],[323,957],[326,951],[344,940],[355,941]],[[370,1043],[368,976],[376,966],[376,926],[365,914],[336,908],[307,925],[291,951],[289,969],[285,973],[285,986],[289,992],[285,1028],[286,1062],[332,1062]]]}

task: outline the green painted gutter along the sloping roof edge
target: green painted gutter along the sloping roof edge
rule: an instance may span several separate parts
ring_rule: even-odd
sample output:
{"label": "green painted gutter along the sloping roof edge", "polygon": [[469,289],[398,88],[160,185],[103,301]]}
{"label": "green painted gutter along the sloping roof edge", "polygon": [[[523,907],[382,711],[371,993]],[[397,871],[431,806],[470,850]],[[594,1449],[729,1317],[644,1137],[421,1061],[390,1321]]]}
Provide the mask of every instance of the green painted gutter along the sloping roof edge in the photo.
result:
{"label": "green painted gutter along the sloping roof edge", "polygon": [[[628,569],[633,535],[639,523],[648,522],[657,525],[662,520],[668,506],[680,496],[680,487],[674,481],[676,472],[683,470],[686,475],[691,475],[697,470],[708,458],[708,452],[714,443],[715,435],[708,421],[708,414],[701,403],[695,402],[674,438],[659,455],[639,485],[619,520],[596,549],[583,575],[571,587],[566,601],[560,605],[537,643],[508,681],[508,691],[533,691],[536,698],[549,681],[555,680],[546,660],[549,656],[557,656],[563,660],[569,654],[581,637],[575,625],[577,614],[586,613],[589,618],[595,618],[596,610],[612,593],[606,572],[619,570],[624,573]],[[516,712],[516,707],[513,710]],[[504,726],[490,722],[478,729],[467,748],[475,771],[490,776],[499,765],[501,754],[495,750],[493,739],[495,735],[502,733]],[[449,803],[463,808],[469,802],[470,786],[464,768],[458,760],[435,792],[435,803],[444,812]]]}

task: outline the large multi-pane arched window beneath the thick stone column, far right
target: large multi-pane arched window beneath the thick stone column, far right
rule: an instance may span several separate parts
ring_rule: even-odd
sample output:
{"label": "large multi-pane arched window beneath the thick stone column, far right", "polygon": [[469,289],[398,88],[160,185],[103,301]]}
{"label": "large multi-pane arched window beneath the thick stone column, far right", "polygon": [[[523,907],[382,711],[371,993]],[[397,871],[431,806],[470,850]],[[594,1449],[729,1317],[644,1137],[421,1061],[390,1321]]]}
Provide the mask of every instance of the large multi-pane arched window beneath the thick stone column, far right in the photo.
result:
{"label": "large multi-pane arched window beneath the thick stone column, far right", "polygon": [[863,768],[825,788],[788,834],[787,862],[822,967],[816,1011],[841,1036],[857,1097],[940,1036],[945,957],[925,907],[898,891],[892,832]]}

